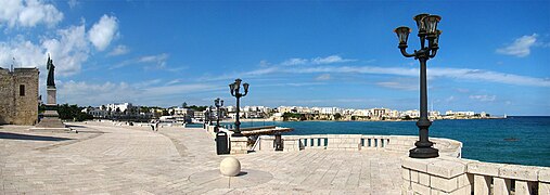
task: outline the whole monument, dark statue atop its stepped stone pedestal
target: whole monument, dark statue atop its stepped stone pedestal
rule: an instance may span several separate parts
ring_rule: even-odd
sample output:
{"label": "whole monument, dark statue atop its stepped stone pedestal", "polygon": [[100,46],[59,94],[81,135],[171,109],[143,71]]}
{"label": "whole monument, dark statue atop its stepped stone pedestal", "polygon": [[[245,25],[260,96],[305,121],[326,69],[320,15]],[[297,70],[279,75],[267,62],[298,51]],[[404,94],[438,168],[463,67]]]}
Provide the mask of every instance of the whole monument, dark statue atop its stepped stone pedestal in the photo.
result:
{"label": "whole monument, dark statue atop its stepped stone pedestal", "polygon": [[71,131],[71,128],[67,128],[65,123],[63,123],[60,119],[60,115],[57,114],[57,102],[56,102],[56,88],[54,80],[54,69],[53,61],[48,56],[48,64],[46,66],[48,69],[48,80],[46,84],[46,91],[48,93],[47,102],[46,102],[46,110],[43,113],[43,118],[40,122],[30,128],[30,130],[41,130],[41,131],[52,131],[52,132],[66,132]]}

